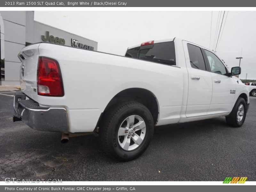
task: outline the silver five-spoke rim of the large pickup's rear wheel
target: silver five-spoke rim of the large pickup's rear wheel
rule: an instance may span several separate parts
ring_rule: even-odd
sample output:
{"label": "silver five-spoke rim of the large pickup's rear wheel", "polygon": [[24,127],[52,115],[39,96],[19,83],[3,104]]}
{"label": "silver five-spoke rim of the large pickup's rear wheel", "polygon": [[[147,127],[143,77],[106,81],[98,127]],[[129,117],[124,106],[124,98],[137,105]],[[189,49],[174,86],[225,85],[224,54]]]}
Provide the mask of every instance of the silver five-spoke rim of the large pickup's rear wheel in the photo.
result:
{"label": "silver five-spoke rim of the large pickup's rear wheel", "polygon": [[117,140],[121,148],[131,151],[140,146],[145,138],[146,124],[141,116],[131,115],[121,123]]}

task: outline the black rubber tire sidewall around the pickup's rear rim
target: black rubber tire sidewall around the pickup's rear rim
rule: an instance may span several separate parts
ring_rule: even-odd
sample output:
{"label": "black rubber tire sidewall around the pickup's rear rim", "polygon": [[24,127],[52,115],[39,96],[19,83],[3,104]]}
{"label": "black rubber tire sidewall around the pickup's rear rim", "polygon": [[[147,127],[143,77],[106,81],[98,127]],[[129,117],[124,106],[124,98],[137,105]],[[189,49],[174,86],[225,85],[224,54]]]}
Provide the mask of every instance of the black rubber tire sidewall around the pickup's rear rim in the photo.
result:
{"label": "black rubber tire sidewall around the pickup's rear rim", "polygon": [[[144,120],[145,124],[146,124],[146,134],[145,137],[142,141],[142,143],[140,144],[139,147],[137,147],[136,149],[133,149],[131,151],[126,151],[123,148],[121,148],[121,146],[118,143],[118,129],[121,126],[122,122],[131,115],[138,115],[140,117],[142,117],[142,119]],[[146,148],[149,145],[150,140],[152,139],[153,136],[153,131],[154,131],[154,123],[153,123],[153,118],[151,113],[149,112],[149,110],[145,107],[142,108],[140,106],[133,106],[130,108],[126,108],[123,111],[121,111],[120,113],[116,114],[114,121],[111,124],[111,128],[110,128],[110,134],[108,137],[108,141],[110,142],[110,146],[114,152],[114,154],[116,154],[117,158],[120,160],[132,160],[138,156],[140,156],[140,154],[142,154]]]}

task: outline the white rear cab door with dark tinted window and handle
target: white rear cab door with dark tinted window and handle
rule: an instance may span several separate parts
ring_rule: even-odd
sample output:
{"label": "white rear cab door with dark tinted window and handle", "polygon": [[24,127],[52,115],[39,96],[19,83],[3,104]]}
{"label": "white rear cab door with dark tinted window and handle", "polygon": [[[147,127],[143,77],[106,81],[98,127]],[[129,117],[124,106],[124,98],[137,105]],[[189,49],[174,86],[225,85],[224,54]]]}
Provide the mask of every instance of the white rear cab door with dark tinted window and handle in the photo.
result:
{"label": "white rear cab door with dark tinted window and handle", "polygon": [[203,50],[196,44],[183,41],[188,70],[188,101],[186,117],[207,115],[212,99],[212,76],[206,65]]}

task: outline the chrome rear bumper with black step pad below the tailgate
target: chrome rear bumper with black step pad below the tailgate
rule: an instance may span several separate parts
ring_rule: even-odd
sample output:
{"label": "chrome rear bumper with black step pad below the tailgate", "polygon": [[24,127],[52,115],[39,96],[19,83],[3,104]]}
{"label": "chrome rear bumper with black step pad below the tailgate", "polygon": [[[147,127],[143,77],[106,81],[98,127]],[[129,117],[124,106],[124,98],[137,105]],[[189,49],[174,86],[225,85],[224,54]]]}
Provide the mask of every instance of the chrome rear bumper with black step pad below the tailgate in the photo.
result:
{"label": "chrome rear bumper with black step pad below the tailgate", "polygon": [[68,132],[68,117],[65,108],[40,107],[23,92],[15,92],[14,116],[32,129],[52,132]]}

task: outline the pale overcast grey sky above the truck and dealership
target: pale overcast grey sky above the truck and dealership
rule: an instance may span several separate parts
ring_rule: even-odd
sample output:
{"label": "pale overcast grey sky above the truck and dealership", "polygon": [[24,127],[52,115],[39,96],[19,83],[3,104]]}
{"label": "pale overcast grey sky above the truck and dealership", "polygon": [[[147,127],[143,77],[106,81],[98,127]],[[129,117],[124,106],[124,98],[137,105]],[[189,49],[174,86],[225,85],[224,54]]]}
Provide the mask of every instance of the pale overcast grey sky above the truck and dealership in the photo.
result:
{"label": "pale overcast grey sky above the truck and dealership", "polygon": [[256,12],[226,11],[220,31],[223,14],[224,11],[35,11],[35,20],[97,41],[98,51],[117,55],[124,55],[129,46],[170,37],[215,50],[219,36],[216,54],[229,70],[239,65],[236,57],[242,53],[239,78],[245,79],[247,73],[247,79],[256,79]]}

